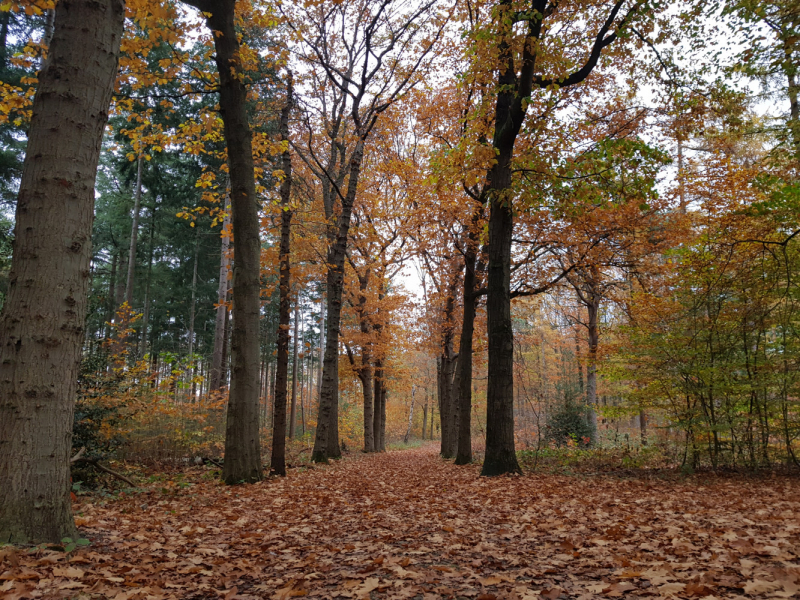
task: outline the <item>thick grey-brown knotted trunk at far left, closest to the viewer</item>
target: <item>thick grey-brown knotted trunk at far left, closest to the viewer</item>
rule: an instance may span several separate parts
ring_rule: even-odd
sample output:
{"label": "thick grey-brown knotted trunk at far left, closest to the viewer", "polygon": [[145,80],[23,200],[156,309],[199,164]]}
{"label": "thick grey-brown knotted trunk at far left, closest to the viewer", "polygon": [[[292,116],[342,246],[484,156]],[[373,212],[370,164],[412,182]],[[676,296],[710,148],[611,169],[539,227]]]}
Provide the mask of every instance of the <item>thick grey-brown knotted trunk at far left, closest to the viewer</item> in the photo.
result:
{"label": "thick grey-brown knotted trunk at far left, closest to the viewer", "polygon": [[72,417],[94,182],[124,8],[121,0],[60,0],[39,73],[0,318],[0,543],[76,535]]}

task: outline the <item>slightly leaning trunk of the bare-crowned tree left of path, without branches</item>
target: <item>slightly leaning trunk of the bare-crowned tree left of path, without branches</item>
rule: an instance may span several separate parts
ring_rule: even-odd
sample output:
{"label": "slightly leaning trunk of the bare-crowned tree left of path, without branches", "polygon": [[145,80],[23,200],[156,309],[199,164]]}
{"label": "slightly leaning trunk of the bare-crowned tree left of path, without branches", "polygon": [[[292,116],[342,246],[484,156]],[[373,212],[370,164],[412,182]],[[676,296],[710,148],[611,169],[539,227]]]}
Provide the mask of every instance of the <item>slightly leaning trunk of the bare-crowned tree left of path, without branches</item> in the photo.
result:
{"label": "slightly leaning trunk of the bare-crowned tree left of path, without branches", "polygon": [[327,462],[328,458],[339,458],[339,331],[341,329],[342,290],[344,283],[344,260],[350,217],[356,199],[361,160],[364,157],[364,142],[359,140],[350,159],[350,178],[347,194],[337,221],[336,239],[328,248],[328,328],[325,336],[325,359],[322,365],[322,389],[317,416],[317,434],[311,459]]}

